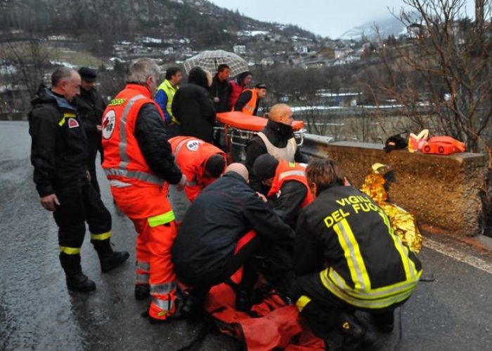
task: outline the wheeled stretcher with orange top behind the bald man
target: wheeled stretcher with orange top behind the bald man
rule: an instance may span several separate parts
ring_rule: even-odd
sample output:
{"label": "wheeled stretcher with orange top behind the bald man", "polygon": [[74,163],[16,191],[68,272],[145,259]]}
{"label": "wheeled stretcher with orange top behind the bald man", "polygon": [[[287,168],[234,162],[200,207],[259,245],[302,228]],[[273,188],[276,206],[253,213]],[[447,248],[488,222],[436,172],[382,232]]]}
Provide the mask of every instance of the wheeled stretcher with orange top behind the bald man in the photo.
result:
{"label": "wheeled stretcher with orange top behind the bald man", "polygon": [[[255,133],[258,133],[265,128],[268,119],[264,117],[251,116],[239,111],[235,112],[221,112],[217,114],[217,121],[224,124],[224,127],[216,127],[218,129],[224,129],[225,145],[228,150],[229,159],[240,158],[239,155],[234,155],[234,152],[239,150],[244,151],[247,140],[250,140]],[[303,121],[294,121],[292,123],[292,129],[294,131],[294,137],[296,138],[297,145],[302,146],[304,143],[304,128]],[[233,148],[233,145],[237,147]]]}

